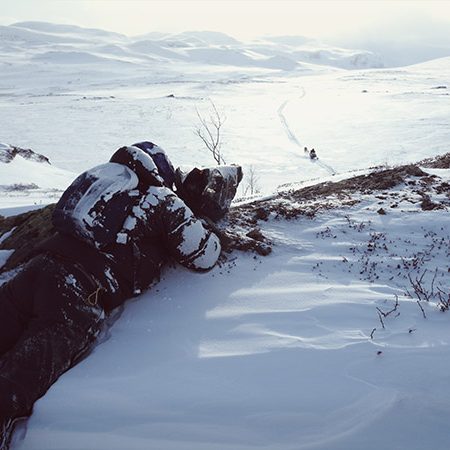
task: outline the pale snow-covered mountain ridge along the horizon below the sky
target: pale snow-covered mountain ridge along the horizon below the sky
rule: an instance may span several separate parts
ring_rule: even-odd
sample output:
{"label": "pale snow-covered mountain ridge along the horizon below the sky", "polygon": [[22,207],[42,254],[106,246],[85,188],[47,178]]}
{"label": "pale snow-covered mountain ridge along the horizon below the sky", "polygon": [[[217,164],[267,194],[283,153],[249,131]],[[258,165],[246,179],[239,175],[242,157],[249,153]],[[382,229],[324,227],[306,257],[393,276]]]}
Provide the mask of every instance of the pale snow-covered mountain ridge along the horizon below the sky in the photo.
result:
{"label": "pale snow-covered mountain ridge along the horizon below the sky", "polygon": [[129,37],[94,28],[46,22],[0,26],[0,52],[7,57],[20,52],[22,63],[46,65],[80,62],[97,66],[105,62],[119,66],[124,62],[148,65],[150,58],[150,61],[162,64],[182,61],[280,71],[304,70],[305,64],[344,69],[383,66],[380,58],[372,52],[331,47],[303,36],[267,37],[245,43],[212,31],[148,33]]}

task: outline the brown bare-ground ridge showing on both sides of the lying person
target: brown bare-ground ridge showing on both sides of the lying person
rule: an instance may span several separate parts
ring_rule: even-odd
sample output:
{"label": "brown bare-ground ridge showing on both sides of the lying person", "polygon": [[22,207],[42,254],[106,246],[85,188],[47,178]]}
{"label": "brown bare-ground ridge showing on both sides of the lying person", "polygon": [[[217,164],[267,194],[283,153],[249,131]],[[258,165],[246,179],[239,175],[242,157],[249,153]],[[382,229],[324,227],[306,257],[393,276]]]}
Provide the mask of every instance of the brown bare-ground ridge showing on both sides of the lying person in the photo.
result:
{"label": "brown bare-ground ridge showing on both sides of the lying person", "polygon": [[[420,204],[422,210],[448,209],[449,183],[428,175],[420,166],[449,168],[450,153],[415,165],[376,168],[369,174],[338,182],[291,189],[269,200],[256,200],[240,205],[231,209],[216,232],[220,234],[227,253],[242,250],[267,255],[271,252],[272,243],[264,236],[258,224],[269,217],[287,220],[299,216],[314,217],[324,210],[351,207],[368,195],[376,195],[380,200],[379,214],[386,214],[389,208],[399,208],[405,202]],[[400,185],[401,191],[394,189]],[[53,208],[54,205],[49,205],[38,211],[0,217],[0,235],[14,228],[0,243],[0,250],[15,250],[1,269],[3,272],[26,262],[36,246],[54,232],[51,224]]]}

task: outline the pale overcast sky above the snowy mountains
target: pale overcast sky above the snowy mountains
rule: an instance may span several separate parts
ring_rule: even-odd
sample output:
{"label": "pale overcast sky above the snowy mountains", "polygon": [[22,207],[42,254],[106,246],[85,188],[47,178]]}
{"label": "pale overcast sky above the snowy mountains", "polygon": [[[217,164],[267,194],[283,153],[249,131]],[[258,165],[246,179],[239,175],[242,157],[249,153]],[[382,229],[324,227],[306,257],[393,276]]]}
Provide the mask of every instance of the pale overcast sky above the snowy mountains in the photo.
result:
{"label": "pale overcast sky above the snowy mountains", "polygon": [[262,35],[450,40],[450,0],[0,0],[0,23],[40,20],[128,35],[222,31]]}

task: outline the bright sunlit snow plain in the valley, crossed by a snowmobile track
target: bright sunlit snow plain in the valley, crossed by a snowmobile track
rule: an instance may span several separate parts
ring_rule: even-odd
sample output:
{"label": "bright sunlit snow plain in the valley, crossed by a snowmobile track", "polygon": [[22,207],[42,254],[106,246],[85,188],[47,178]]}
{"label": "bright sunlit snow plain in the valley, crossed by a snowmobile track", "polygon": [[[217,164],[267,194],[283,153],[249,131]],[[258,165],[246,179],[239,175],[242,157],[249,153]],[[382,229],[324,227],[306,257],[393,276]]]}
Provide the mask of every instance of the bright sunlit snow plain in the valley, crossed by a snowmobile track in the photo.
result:
{"label": "bright sunlit snow plain in the valley, crossed by a snowmobile track", "polygon": [[[180,79],[144,87],[138,79],[122,87],[110,80],[108,90],[68,87],[64,95],[6,96],[0,99],[2,139],[31,146],[73,173],[107,161],[124,144],[148,139],[176,166],[207,166],[214,161],[195,135],[196,110],[209,117],[211,98],[226,118],[224,159],[243,165],[244,173],[253,168],[259,191],[267,194],[283,183],[445,153],[448,93],[434,88],[445,85],[450,62],[444,59],[436,72],[417,67],[256,83]],[[316,149],[318,161],[304,154],[305,145]]]}

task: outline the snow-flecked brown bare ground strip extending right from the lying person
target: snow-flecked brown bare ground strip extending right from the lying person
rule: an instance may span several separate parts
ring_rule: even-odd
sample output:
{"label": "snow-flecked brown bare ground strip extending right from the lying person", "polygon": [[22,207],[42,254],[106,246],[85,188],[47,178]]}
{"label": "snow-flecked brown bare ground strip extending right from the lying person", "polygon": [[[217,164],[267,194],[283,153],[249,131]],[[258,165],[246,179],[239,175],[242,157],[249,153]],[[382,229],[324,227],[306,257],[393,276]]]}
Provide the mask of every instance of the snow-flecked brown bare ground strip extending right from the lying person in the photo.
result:
{"label": "snow-flecked brown bare ground strip extending right from the lying person", "polygon": [[[294,219],[314,217],[318,212],[351,207],[376,195],[379,214],[399,208],[404,202],[420,204],[422,210],[448,209],[450,185],[439,177],[428,175],[420,166],[449,168],[450,153],[414,165],[376,168],[368,175],[359,175],[338,182],[325,182],[280,193],[269,200],[259,200],[233,208],[222,227],[227,250],[253,250],[261,255],[270,252],[270,241],[258,223],[269,217]],[[394,188],[402,186],[401,191]]]}

